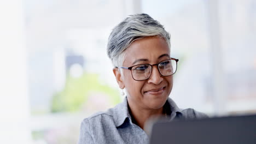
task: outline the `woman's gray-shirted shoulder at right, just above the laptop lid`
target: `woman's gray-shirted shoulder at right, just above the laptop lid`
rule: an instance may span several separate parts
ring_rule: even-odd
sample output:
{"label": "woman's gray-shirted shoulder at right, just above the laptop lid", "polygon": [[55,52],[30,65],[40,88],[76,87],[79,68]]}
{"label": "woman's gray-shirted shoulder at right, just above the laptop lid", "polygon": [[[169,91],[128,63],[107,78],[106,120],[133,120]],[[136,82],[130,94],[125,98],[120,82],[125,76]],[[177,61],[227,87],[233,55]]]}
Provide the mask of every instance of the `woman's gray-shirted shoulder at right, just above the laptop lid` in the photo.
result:
{"label": "woman's gray-shirted shoulder at right, just above the laptop lid", "polygon": [[189,118],[208,118],[208,116],[203,113],[203,112],[199,112],[196,111],[194,109],[180,109],[182,112],[182,115],[185,119],[189,119]]}

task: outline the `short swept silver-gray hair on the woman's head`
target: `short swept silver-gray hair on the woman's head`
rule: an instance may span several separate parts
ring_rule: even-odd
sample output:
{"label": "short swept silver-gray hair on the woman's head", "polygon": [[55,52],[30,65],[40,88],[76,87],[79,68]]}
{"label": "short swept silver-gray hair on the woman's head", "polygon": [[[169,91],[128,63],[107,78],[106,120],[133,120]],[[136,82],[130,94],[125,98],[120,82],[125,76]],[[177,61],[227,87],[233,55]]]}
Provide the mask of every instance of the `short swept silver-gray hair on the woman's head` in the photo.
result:
{"label": "short swept silver-gray hair on the woman's head", "polygon": [[170,49],[170,34],[158,21],[147,14],[130,15],[120,22],[109,35],[107,53],[114,67],[123,65],[125,50],[137,39],[160,36]]}

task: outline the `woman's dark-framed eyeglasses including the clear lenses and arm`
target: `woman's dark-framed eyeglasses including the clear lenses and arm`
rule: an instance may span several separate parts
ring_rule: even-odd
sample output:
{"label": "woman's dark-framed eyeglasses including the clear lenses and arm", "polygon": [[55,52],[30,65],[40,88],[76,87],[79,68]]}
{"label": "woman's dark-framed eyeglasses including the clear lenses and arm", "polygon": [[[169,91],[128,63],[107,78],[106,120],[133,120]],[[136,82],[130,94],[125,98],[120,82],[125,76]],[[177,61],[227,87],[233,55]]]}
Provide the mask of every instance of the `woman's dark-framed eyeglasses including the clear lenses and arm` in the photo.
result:
{"label": "woman's dark-framed eyeglasses including the clear lenses and arm", "polygon": [[158,66],[158,71],[162,76],[173,75],[177,70],[177,63],[179,59],[171,58],[157,64],[138,64],[132,67],[115,67],[121,69],[130,69],[132,78],[136,81],[143,81],[149,79],[153,65]]}

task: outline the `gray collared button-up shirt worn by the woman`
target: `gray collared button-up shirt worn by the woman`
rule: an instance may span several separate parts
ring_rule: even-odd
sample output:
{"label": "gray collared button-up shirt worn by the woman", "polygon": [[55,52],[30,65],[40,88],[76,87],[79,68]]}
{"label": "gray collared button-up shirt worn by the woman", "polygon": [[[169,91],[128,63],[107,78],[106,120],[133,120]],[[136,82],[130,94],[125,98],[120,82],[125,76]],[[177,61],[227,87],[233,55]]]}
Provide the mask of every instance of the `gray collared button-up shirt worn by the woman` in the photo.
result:
{"label": "gray collared button-up shirt worn by the woman", "polygon": [[[207,115],[193,109],[179,109],[171,98],[166,101],[170,121],[174,118],[205,118]],[[166,106],[165,104],[165,106]],[[85,118],[80,127],[78,144],[88,143],[148,143],[149,137],[138,125],[132,123],[127,98],[106,112]]]}

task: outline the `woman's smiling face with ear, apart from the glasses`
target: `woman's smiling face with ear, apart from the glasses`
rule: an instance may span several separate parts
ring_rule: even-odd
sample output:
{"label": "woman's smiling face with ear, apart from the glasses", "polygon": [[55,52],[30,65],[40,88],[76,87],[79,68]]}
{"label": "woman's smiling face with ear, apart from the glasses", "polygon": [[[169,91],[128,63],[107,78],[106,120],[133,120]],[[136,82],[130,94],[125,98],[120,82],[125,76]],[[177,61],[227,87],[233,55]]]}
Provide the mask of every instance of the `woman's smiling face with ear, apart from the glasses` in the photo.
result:
{"label": "woman's smiling face with ear, apart from the glasses", "polygon": [[[170,59],[170,49],[164,38],[147,37],[133,41],[126,49],[124,67],[137,64],[156,64]],[[157,66],[153,66],[149,79],[133,80],[131,70],[124,69],[124,76],[114,70],[121,88],[126,88],[129,105],[142,109],[160,109],[172,91],[173,77],[161,76]],[[120,74],[120,73],[119,73]]]}

